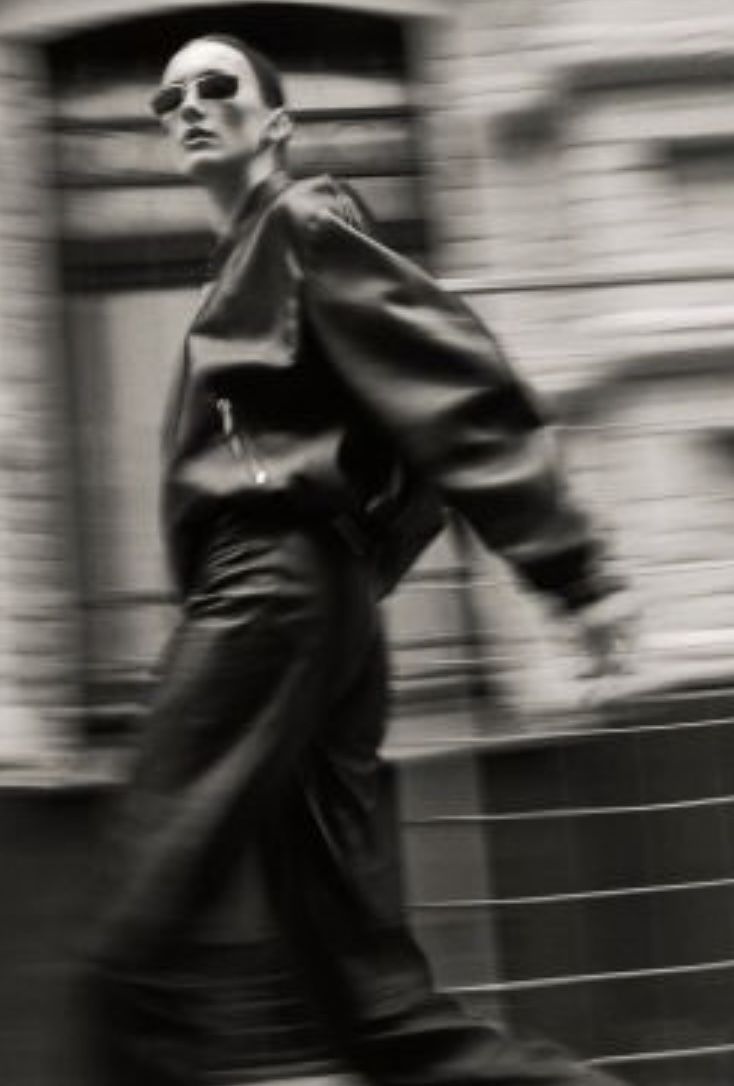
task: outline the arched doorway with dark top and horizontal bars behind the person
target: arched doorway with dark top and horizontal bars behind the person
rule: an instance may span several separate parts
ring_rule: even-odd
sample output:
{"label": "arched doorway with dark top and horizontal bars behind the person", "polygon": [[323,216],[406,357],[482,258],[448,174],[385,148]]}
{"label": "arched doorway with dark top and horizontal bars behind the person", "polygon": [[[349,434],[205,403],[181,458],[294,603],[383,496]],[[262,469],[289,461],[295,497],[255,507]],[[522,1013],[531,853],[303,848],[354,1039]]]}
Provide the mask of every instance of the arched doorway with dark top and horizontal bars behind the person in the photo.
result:
{"label": "arched doorway with dark top and horizontal bars behind the person", "polygon": [[398,17],[246,4],[138,16],[48,46],[66,355],[73,375],[89,703],[125,719],[170,621],[159,419],[212,236],[147,109],[170,51],[219,28],[284,73],[291,168],[347,178],[388,243],[426,261],[419,129]]}

